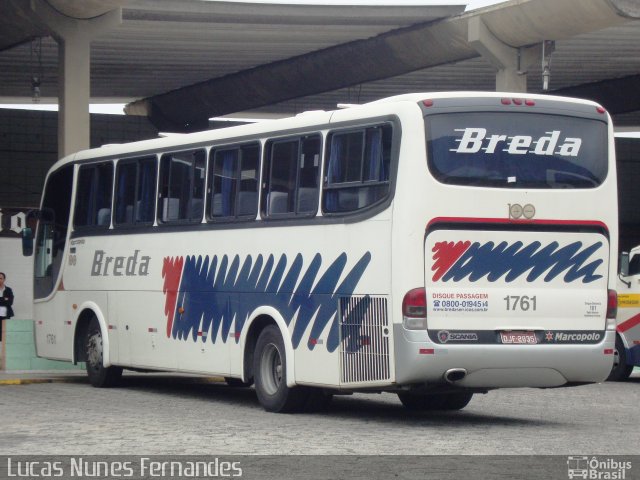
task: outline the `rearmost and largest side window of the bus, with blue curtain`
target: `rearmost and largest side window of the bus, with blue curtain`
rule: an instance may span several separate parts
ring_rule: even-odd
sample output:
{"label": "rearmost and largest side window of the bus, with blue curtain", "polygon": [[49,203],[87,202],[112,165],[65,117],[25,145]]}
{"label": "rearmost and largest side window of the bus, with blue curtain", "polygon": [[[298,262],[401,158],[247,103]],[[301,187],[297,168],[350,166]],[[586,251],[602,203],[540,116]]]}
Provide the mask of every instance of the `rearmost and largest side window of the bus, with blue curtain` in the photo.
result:
{"label": "rearmost and largest side window of the bus, with blue curtain", "polygon": [[388,124],[329,134],[323,212],[360,210],[387,196],[391,137]]}

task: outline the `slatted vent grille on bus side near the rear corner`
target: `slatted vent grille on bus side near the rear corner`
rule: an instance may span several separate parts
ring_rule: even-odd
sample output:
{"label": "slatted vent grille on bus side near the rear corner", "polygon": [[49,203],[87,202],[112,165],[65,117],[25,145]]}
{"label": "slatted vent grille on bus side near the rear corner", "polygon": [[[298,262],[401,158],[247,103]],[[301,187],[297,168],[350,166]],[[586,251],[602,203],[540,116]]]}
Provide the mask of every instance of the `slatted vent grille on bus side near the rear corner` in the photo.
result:
{"label": "slatted vent grille on bus side near the rear corner", "polygon": [[387,299],[341,297],[339,314],[341,382],[389,380]]}

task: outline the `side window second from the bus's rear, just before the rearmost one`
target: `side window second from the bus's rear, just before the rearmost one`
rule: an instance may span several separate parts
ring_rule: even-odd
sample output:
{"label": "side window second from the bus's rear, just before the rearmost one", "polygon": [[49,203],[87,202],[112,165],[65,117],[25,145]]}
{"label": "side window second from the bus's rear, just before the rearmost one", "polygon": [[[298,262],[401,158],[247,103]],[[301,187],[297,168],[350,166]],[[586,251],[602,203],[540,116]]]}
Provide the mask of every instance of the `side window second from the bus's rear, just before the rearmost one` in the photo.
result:
{"label": "side window second from the bus's rear, just before the rearmost one", "polygon": [[267,143],[263,215],[315,215],[318,210],[319,135]]}

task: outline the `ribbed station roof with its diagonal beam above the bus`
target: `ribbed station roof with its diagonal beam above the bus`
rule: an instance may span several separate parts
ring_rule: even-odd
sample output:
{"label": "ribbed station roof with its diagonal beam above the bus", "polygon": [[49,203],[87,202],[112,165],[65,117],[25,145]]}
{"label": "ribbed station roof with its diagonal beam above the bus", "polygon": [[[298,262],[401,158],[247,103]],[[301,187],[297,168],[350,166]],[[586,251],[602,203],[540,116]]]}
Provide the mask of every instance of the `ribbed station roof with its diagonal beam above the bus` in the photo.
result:
{"label": "ribbed station roof with its diagonal beam above the bus", "polygon": [[[92,103],[127,103],[162,130],[407,92],[495,90],[495,68],[466,41],[480,14],[510,47],[555,41],[551,93],[594,99],[619,125],[640,125],[636,0],[512,0],[466,13],[467,2],[453,0],[3,0],[0,103],[30,102],[36,83],[41,102],[57,96],[58,44],[32,1],[76,19],[121,8],[122,23],[91,44]],[[521,73],[529,92],[542,91],[541,64]]]}

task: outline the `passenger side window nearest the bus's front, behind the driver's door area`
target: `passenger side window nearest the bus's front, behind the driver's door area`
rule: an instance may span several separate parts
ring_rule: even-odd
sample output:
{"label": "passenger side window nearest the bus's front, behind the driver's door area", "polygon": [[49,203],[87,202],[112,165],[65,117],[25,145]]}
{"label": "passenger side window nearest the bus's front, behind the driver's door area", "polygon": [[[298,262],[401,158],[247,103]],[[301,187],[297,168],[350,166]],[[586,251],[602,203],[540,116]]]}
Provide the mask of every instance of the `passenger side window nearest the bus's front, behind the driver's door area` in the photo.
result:
{"label": "passenger side window nearest the bus's front, behind the driver's door area", "polygon": [[109,228],[112,191],[113,163],[80,167],[73,217],[74,226]]}

